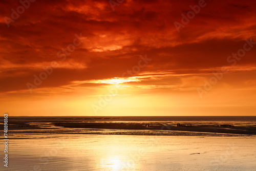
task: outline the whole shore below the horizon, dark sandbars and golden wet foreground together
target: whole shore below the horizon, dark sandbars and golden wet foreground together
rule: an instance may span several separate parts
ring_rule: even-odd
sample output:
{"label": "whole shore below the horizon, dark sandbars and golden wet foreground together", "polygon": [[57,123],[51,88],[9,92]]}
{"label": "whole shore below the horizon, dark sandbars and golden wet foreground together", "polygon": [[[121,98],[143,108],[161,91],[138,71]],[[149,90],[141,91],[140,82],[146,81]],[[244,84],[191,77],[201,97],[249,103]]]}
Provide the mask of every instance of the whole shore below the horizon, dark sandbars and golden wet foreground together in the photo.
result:
{"label": "whole shore below the horizon, dark sandbars and golden wet foreground together", "polygon": [[254,171],[255,118],[10,117],[1,168]]}

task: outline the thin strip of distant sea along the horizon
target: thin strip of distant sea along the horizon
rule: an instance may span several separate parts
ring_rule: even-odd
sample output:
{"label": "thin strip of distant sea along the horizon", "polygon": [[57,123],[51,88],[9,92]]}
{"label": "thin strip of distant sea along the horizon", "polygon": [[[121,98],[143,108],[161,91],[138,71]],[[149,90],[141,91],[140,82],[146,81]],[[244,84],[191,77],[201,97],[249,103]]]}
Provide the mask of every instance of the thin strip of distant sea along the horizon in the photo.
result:
{"label": "thin strip of distant sea along the horizon", "polygon": [[70,122],[256,122],[256,116],[45,116],[9,117],[12,121]]}

